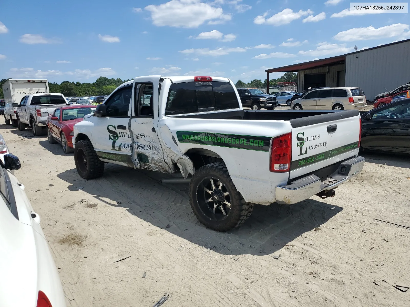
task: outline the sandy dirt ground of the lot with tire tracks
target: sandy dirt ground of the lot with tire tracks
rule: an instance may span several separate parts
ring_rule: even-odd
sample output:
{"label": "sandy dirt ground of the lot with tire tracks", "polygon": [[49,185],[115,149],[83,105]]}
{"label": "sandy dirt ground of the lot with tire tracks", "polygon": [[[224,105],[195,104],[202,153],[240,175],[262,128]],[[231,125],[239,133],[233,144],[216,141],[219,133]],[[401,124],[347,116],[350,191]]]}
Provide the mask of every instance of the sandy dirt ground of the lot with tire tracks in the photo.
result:
{"label": "sandy dirt ground of the lot with tire tracks", "polygon": [[[78,176],[73,154],[0,120],[50,243],[67,306],[409,306],[410,162],[364,155],[336,197],[256,205],[227,233],[203,227],[187,185],[106,164]],[[116,262],[122,258],[125,260]],[[145,276],[145,278],[143,278]]]}

